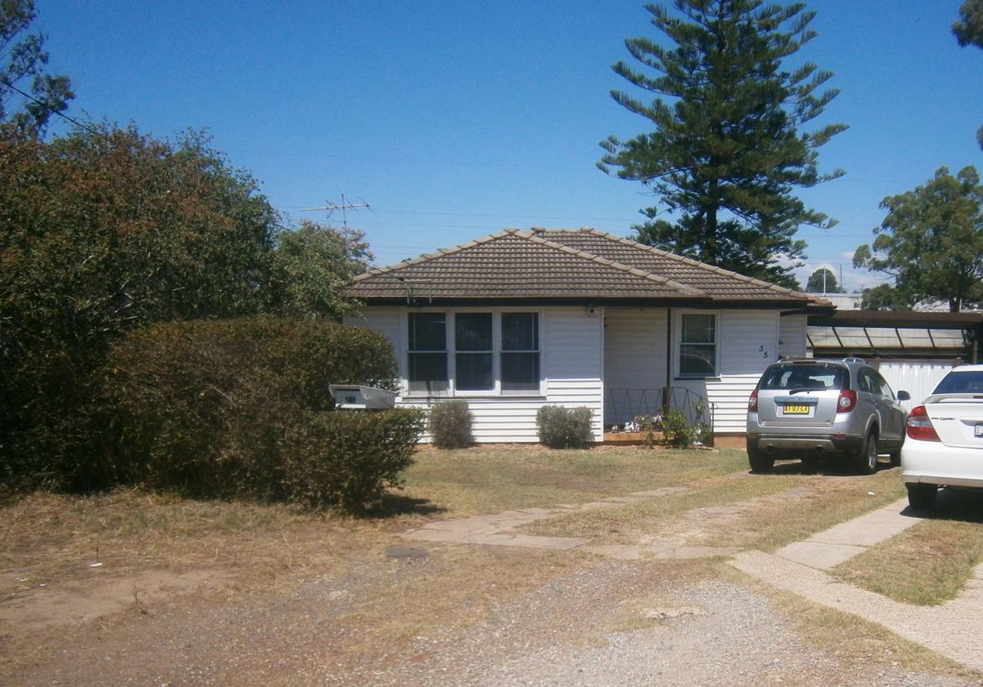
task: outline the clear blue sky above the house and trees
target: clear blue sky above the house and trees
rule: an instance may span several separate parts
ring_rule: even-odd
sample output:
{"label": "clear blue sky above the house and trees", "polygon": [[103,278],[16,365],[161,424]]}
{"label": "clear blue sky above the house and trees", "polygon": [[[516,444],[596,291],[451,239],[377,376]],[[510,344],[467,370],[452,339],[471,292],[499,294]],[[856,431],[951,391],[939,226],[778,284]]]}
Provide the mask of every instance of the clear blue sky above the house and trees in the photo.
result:
{"label": "clear blue sky above the house and trees", "polygon": [[[941,165],[983,168],[983,51],[950,31],[959,0],[812,0],[819,36],[793,60],[836,76],[822,148],[846,176],[802,192],[839,220],[803,228],[812,269],[872,240],[878,203]],[[626,235],[653,199],[595,167],[609,134],[648,131],[608,95],[624,39],[654,35],[641,2],[177,2],[37,0],[70,113],[168,136],[206,128],[294,220],[351,212],[389,264],[504,227],[593,226]],[[340,219],[338,215],[332,219]]]}

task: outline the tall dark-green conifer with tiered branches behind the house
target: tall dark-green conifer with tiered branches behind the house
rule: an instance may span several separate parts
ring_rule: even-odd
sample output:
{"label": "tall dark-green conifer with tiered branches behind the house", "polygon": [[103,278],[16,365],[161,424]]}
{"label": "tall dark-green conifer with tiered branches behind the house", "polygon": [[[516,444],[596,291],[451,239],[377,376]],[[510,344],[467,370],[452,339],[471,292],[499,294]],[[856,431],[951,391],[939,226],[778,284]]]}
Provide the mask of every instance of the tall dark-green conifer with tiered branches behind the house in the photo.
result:
{"label": "tall dark-green conifer with tiered branches behind the house", "polygon": [[818,148],[845,125],[799,131],[836,97],[837,89],[817,92],[833,74],[811,62],[782,64],[815,37],[809,29],[815,13],[801,3],[762,0],[674,0],[673,6],[676,15],[646,6],[672,47],[648,37],[625,41],[632,57],[656,74],[624,62],[613,66],[632,85],[657,94],[643,102],[611,91],[655,130],[628,141],[608,137],[598,166],[641,181],[663,208],[678,213],[670,223],[657,219],[660,207],[643,209],[649,221],[635,227],[643,243],[791,285],[805,249],[793,238],[798,226],[835,224],[793,189],[843,174],[820,174],[817,163]]}

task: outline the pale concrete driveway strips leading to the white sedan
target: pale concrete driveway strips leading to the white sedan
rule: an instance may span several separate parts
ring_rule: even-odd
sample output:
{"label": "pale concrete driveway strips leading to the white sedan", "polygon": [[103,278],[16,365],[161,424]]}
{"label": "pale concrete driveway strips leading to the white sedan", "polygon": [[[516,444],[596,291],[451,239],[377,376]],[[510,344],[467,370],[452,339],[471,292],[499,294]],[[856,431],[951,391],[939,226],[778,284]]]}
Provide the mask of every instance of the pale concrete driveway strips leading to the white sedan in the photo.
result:
{"label": "pale concrete driveway strips leading to the white sedan", "polygon": [[836,581],[827,570],[920,520],[901,499],[840,523],[775,553],[748,550],[730,564],[777,589],[884,625],[897,635],[976,670],[983,670],[983,564],[953,601],[938,606],[901,603]]}

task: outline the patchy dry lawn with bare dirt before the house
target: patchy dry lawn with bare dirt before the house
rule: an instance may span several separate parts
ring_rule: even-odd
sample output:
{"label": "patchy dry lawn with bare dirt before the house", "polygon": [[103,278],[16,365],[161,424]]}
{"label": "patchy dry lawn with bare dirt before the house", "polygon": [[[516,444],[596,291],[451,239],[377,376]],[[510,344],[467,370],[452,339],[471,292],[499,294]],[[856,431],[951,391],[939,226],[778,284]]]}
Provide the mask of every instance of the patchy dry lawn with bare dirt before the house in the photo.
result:
{"label": "patchy dry lawn with bare dirt before the house", "polygon": [[[896,498],[900,482],[896,471],[750,476],[746,454],[725,449],[483,446],[425,448],[417,458],[405,490],[364,519],[139,489],[8,501],[0,506],[0,683],[184,684],[206,675],[216,684],[376,684],[377,671],[428,663],[502,609],[521,614],[523,600],[578,589],[579,576],[607,579],[611,563],[582,548],[395,546],[400,532],[688,487],[530,527],[593,544],[683,536],[773,548]],[[674,606],[659,586],[732,579],[720,561],[648,558],[617,568],[637,589],[611,587],[618,605],[584,631],[664,623],[653,608]],[[562,603],[555,612],[549,622],[576,635]],[[576,641],[593,641],[585,637]],[[315,664],[330,666],[331,679],[306,672]]]}

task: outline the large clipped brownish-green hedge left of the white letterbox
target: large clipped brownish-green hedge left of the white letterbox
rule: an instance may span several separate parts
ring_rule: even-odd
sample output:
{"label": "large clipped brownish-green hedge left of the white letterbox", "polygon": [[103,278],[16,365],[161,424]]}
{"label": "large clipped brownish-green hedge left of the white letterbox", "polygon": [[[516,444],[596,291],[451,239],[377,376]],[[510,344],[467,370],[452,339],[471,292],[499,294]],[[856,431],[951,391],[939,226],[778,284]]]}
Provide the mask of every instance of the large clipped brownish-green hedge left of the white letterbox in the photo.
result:
{"label": "large clipped brownish-green hedge left of the white letterbox", "polygon": [[315,319],[249,317],[158,324],[114,347],[105,374],[109,484],[200,496],[280,498],[280,445],[333,408],[329,383],[394,388],[380,334]]}

